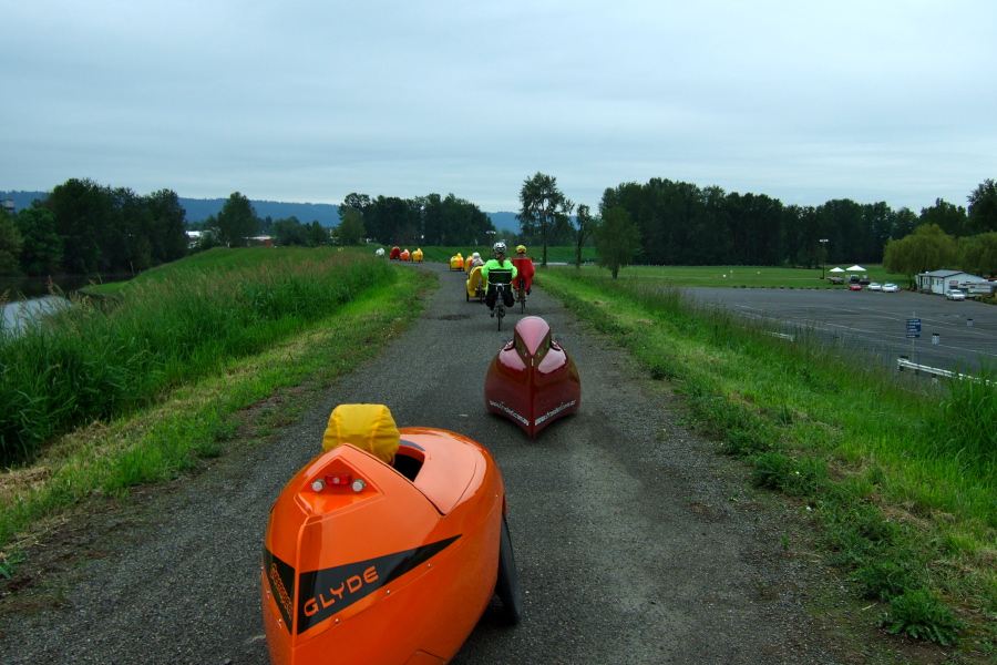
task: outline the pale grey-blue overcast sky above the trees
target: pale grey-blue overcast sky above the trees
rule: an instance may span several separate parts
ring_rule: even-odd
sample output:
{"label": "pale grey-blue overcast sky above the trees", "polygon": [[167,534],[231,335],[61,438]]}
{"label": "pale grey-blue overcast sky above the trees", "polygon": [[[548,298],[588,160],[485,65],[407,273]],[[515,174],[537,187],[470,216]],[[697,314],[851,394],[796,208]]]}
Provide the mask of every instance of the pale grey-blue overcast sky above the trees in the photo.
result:
{"label": "pale grey-blue overcast sky above the trees", "polygon": [[787,204],[997,178],[994,0],[0,0],[0,190]]}

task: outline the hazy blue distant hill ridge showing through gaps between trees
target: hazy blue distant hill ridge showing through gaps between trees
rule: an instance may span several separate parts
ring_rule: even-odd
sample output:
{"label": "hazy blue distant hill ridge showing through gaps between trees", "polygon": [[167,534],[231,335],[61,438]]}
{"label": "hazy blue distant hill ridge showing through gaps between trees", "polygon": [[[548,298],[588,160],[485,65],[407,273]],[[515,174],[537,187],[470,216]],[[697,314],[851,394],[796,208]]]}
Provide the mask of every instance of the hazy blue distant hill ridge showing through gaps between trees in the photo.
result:
{"label": "hazy blue distant hill ridge showing through gaps between trees", "polygon": [[[0,200],[11,198],[14,203],[14,209],[20,211],[31,207],[31,203],[38,198],[44,201],[48,198],[48,192],[0,192]],[[181,205],[187,213],[187,222],[204,222],[212,215],[222,212],[222,207],[228,198],[183,198]],[[253,207],[260,217],[270,217],[273,219],[286,219],[288,217],[297,217],[301,224],[311,224],[316,219],[319,224],[327,227],[339,226],[339,206],[328,203],[282,203],[279,201],[253,201]],[[512,232],[520,231],[520,221],[516,219],[515,213],[485,213],[492,224],[498,231],[508,229]]]}

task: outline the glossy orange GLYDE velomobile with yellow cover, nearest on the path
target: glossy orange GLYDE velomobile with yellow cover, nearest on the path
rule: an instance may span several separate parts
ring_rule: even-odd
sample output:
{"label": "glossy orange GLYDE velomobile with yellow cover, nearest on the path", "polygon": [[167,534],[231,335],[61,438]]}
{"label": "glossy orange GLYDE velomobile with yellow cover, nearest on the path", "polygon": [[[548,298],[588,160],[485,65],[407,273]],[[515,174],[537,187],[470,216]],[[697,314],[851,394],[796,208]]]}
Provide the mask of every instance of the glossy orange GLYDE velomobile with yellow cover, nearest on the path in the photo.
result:
{"label": "glossy orange GLYDE velomobile with yellow cover, nearest on the path", "polygon": [[381,405],[340,405],[323,450],[270,510],[271,663],[443,664],[496,593],[518,621],[502,473],[484,447],[398,429]]}

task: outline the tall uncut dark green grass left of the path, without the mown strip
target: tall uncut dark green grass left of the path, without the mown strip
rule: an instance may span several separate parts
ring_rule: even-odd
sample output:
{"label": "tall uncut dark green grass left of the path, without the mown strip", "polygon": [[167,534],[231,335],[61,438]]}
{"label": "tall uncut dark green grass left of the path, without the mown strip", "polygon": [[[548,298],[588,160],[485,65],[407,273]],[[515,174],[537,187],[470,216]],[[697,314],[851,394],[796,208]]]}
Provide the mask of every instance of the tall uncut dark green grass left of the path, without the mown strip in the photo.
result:
{"label": "tall uncut dark green grass left of the path, without the mown strip", "polygon": [[0,336],[0,463],[24,461],[61,432],[258,352],[391,274],[384,262],[320,252],[184,272],[136,284],[121,300],[76,297],[23,334]]}

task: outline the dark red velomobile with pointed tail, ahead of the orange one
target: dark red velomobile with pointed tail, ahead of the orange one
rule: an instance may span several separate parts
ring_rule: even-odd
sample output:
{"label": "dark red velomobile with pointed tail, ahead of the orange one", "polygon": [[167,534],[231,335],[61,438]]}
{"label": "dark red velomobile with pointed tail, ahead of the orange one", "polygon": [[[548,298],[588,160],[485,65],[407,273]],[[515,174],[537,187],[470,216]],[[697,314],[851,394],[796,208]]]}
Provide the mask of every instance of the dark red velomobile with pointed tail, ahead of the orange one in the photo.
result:
{"label": "dark red velomobile with pointed tail, ahead of the orange one", "polygon": [[582,379],[547,321],[520,319],[485,377],[485,407],[522,427],[530,438],[578,409]]}

